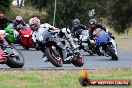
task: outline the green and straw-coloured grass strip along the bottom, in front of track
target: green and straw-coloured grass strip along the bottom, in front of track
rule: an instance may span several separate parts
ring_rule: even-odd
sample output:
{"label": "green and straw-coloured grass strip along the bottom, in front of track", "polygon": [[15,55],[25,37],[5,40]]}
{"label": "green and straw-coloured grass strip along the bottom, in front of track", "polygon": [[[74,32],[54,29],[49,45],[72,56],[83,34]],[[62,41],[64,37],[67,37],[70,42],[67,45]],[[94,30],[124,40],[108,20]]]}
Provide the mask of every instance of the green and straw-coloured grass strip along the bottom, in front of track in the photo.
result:
{"label": "green and straw-coloured grass strip along the bottom, in front of track", "polygon": [[[132,69],[87,70],[90,79],[130,79]],[[81,70],[0,71],[0,88],[82,88]],[[132,88],[132,86],[90,86],[86,88]]]}

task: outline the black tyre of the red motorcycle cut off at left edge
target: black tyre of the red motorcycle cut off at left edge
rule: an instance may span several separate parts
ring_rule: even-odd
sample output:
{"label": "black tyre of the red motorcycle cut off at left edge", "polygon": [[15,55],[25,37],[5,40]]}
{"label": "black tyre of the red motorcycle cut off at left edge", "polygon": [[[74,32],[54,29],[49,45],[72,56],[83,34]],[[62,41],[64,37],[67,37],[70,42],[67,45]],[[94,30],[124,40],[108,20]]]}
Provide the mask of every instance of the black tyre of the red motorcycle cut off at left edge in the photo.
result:
{"label": "black tyre of the red motorcycle cut off at left edge", "polygon": [[11,68],[22,68],[24,66],[24,57],[19,50],[17,50],[15,47],[13,48],[15,51],[17,51],[19,56],[16,57],[8,56],[6,65],[8,65]]}

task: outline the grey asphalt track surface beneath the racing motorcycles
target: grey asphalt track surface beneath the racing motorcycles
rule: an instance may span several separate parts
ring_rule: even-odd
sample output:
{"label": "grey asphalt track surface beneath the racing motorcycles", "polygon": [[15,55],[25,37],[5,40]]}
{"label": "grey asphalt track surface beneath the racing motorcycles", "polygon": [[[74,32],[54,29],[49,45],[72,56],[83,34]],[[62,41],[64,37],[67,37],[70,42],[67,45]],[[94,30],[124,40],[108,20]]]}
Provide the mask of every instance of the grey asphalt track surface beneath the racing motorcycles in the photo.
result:
{"label": "grey asphalt track surface beneath the racing motorcycles", "polygon": [[[35,49],[23,50],[21,46],[16,46],[22,52],[25,58],[24,69],[81,69],[72,64],[64,64],[62,67],[55,67],[50,62],[46,63],[42,60],[43,53]],[[105,56],[89,56],[87,52],[82,52],[85,58],[85,69],[102,69],[115,67],[132,67],[132,51],[118,50],[118,61],[111,61]],[[5,64],[0,64],[0,69],[9,68]]]}

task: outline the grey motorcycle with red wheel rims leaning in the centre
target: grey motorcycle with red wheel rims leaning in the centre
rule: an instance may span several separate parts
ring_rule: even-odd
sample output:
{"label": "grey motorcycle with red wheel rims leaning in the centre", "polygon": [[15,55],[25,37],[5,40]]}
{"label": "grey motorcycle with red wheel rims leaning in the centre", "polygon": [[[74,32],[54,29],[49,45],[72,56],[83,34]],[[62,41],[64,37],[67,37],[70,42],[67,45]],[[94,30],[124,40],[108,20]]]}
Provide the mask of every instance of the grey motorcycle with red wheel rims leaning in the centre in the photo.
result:
{"label": "grey motorcycle with red wheel rims leaning in the centre", "polygon": [[[71,63],[77,67],[83,66],[83,56],[74,54],[71,46],[69,46],[70,44],[65,39],[60,38],[56,32],[45,30],[43,36],[40,36],[40,40],[42,41],[38,42],[41,47],[40,50],[45,53],[47,61],[51,62],[54,66],[61,67],[63,64]],[[60,43],[64,44],[65,50],[59,46]]]}

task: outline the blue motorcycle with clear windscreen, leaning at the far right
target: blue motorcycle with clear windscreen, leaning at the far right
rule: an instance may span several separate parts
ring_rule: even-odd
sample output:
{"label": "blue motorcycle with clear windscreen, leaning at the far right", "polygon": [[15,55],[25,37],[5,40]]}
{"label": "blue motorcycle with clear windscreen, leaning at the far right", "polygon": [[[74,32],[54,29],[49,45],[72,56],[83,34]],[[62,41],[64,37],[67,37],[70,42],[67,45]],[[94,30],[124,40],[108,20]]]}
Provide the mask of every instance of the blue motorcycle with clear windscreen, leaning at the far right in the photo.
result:
{"label": "blue motorcycle with clear windscreen, leaning at the far right", "polygon": [[103,56],[111,57],[112,60],[117,61],[118,56],[115,53],[114,46],[110,42],[110,36],[104,30],[97,28],[93,35],[95,36],[95,47]]}

